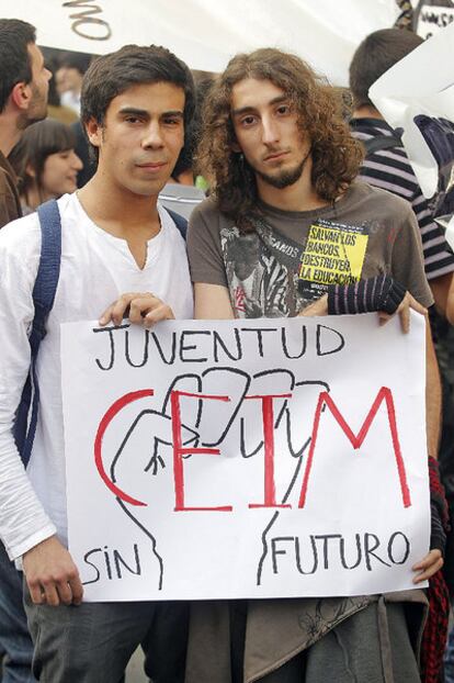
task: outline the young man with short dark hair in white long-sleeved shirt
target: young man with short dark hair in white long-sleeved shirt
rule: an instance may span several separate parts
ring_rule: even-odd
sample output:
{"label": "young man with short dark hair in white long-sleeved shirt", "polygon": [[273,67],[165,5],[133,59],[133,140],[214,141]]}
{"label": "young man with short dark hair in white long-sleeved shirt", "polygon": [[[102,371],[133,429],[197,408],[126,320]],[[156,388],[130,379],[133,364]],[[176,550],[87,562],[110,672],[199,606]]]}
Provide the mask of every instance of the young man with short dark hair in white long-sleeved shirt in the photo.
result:
{"label": "young man with short dark hair in white long-sleeved shirt", "polygon": [[[0,531],[10,558],[22,558],[33,670],[43,682],[117,683],[139,643],[154,681],[182,680],[183,605],[82,602],[67,550],[59,325],[90,318],[120,324],[127,315],[148,327],[192,317],[184,240],[157,199],[193,107],[192,76],[163,47],[126,46],[86,74],[82,121],[98,169],[78,194],[58,200],[60,273],[39,347],[39,413],[26,473],[11,428],[30,366],[38,219],[32,214],[0,234]],[[155,651],[155,636],[166,642],[163,629],[169,649]]]}

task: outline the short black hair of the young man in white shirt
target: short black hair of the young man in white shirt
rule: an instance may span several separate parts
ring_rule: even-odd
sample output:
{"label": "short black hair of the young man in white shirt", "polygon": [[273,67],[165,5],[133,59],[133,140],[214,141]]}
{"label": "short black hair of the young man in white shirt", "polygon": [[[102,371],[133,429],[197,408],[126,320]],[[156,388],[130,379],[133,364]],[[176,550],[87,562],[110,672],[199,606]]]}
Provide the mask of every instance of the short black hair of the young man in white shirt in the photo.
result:
{"label": "short black hair of the young man in white shirt", "polygon": [[[103,125],[110,103],[140,83],[168,82],[184,91],[184,125],[194,114],[194,80],[189,67],[169,49],[158,45],[125,45],[98,57],[83,77],[80,119],[83,126],[94,119]],[[98,148],[94,150],[98,152]]]}

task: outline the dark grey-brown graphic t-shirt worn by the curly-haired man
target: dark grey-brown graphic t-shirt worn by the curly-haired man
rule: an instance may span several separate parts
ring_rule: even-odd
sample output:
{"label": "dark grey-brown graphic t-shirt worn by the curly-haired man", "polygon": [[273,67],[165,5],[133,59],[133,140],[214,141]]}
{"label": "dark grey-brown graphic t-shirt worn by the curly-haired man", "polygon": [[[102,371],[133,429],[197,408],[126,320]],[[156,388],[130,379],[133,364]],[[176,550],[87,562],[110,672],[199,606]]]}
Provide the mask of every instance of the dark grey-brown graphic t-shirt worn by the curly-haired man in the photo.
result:
{"label": "dark grey-brown graphic t-shirt worn by the curly-haired man", "polygon": [[191,220],[192,279],[227,287],[237,317],[296,315],[329,284],[381,273],[431,305],[421,239],[407,202],[356,182],[333,206],[318,211],[260,209],[256,229],[247,234],[213,200]]}

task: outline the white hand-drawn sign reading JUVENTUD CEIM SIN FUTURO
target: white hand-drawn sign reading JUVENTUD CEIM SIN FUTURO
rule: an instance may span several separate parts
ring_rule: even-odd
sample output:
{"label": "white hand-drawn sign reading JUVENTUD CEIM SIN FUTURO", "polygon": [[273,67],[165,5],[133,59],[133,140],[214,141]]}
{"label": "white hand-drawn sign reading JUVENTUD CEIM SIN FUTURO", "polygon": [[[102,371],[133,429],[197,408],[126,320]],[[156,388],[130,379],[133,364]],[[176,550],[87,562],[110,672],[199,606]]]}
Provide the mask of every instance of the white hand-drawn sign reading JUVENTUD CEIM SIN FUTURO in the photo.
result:
{"label": "white hand-drawn sign reading JUVENTUD CEIM SIN FUTURO", "polygon": [[354,595],[428,551],[424,323],[61,326],[89,601]]}

